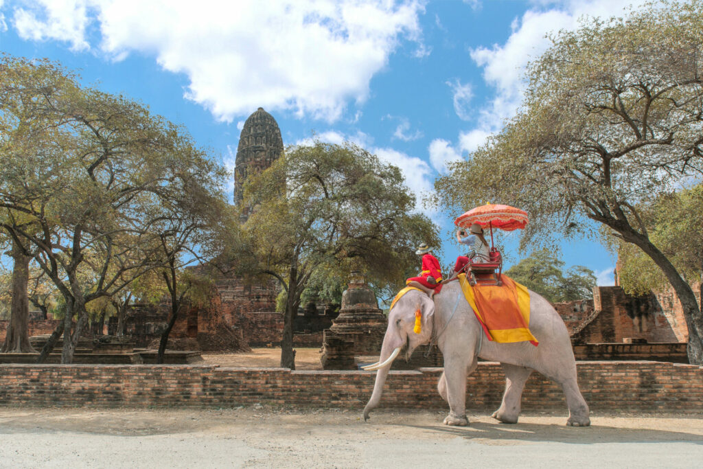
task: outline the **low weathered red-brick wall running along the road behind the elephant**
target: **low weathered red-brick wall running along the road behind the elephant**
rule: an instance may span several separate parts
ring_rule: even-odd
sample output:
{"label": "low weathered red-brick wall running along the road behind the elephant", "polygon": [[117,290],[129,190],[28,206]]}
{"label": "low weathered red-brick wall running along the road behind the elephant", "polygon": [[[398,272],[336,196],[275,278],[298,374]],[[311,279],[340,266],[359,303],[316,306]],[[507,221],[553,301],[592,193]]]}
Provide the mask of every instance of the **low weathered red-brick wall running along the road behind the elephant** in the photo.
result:
{"label": "low weathered red-brick wall running along the road behind the elephant", "polygon": [[[703,367],[653,361],[586,361],[578,365],[581,392],[593,411],[703,413]],[[386,409],[447,409],[437,394],[441,368],[392,371]],[[217,366],[4,365],[0,403],[39,406],[217,406],[256,403],[362,409],[374,373],[289,371]],[[467,407],[497,409],[504,378],[496,363],[479,364],[468,380]],[[559,387],[534,373],[525,386],[526,411],[567,412]]]}

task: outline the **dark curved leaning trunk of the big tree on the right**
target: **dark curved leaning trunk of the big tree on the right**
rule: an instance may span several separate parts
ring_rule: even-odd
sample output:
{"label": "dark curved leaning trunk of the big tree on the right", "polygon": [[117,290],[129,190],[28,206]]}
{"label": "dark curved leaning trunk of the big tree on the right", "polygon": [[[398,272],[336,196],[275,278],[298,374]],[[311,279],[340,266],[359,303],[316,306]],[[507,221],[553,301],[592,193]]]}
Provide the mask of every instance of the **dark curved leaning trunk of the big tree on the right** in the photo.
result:
{"label": "dark curved leaning trunk of the big tree on the right", "polygon": [[678,301],[681,302],[683,316],[686,320],[686,326],[688,326],[688,345],[686,347],[688,361],[690,364],[703,365],[703,315],[691,286],[678,274],[669,258],[662,254],[649,238],[639,233],[623,231],[620,233],[626,241],[643,250],[659,266],[659,269],[662,269],[664,276],[671,283]]}

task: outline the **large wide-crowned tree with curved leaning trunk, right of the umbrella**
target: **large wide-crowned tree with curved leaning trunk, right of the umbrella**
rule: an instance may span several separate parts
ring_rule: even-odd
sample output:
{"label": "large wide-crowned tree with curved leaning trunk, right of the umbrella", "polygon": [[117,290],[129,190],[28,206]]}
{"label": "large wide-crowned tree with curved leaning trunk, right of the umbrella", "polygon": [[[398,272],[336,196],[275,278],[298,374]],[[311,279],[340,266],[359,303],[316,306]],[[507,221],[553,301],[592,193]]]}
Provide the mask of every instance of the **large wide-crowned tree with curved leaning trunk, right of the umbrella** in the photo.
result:
{"label": "large wide-crowned tree with curved leaning trunk, right of the umbrella", "polygon": [[436,184],[447,207],[527,210],[523,247],[593,234],[592,222],[635,245],[681,301],[693,364],[703,363],[703,316],[636,207],[703,174],[702,46],[699,1],[560,32],[529,65],[517,115]]}

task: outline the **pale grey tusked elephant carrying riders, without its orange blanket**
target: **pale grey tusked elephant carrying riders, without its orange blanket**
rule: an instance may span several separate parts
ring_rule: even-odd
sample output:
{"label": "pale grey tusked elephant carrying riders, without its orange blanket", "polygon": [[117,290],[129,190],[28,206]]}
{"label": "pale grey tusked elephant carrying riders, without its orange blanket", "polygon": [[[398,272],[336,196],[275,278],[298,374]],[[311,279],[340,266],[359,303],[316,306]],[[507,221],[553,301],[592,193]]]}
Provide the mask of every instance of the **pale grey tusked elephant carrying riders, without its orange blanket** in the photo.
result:
{"label": "pale grey tusked elephant carrying riders, without its orange blanket", "polygon": [[[569,407],[567,425],[588,426],[588,404],[576,383],[576,361],[569,333],[554,307],[543,297],[530,291],[529,329],[538,340],[497,343],[486,338],[470,305],[465,300],[459,281],[446,283],[432,299],[418,290],[410,290],[389,311],[388,327],[383,338],[380,361],[369,365],[378,370],[373,394],[363,409],[368,420],[370,411],[378,407],[383,385],[392,361],[404,349],[406,359],[419,345],[433,339],[444,356],[444,371],[438,390],[449,404],[445,425],[468,425],[466,417],[466,377],[477,367],[477,359],[499,361],[505,372],[503,402],[492,417],[503,423],[517,423],[522,388],[532,371],[538,371],[561,385]],[[422,314],[420,333],[413,331],[415,311]]]}

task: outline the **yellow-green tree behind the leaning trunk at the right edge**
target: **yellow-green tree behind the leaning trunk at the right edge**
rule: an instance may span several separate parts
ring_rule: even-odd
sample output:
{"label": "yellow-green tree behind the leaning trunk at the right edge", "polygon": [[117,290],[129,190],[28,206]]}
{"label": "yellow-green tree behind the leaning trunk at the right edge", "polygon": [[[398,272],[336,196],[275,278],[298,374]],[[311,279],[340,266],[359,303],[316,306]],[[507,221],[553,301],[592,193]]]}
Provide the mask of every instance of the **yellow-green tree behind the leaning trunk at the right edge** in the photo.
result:
{"label": "yellow-green tree behind the leaning trunk at the right edge", "polygon": [[[650,239],[689,283],[703,276],[703,185],[664,194],[638,207]],[[645,295],[666,285],[666,277],[650,257],[632,245],[613,240],[619,281],[626,292]]]}

